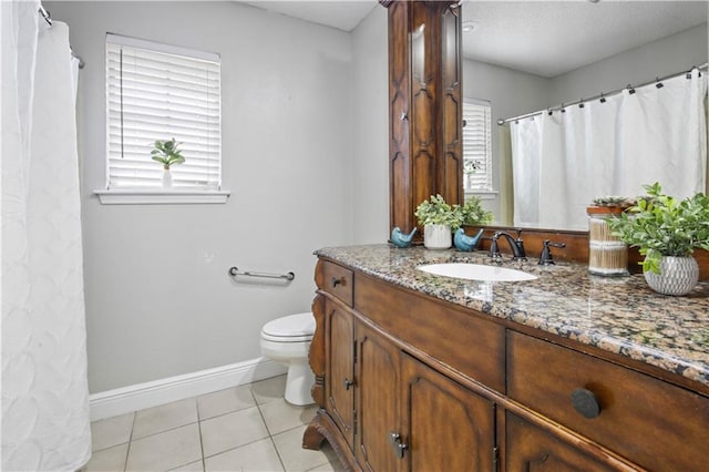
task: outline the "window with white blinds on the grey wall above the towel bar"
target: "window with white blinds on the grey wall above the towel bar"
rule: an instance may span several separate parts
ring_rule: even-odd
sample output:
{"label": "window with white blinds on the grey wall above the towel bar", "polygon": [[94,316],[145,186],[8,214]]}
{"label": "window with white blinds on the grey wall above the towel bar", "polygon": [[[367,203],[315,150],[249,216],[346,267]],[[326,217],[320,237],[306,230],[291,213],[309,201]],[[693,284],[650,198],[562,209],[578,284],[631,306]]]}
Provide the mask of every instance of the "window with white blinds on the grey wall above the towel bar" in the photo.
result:
{"label": "window with white blinds on the grey wall above the towel bar", "polygon": [[106,188],[160,187],[153,143],[182,143],[177,188],[222,184],[219,55],[106,34]]}

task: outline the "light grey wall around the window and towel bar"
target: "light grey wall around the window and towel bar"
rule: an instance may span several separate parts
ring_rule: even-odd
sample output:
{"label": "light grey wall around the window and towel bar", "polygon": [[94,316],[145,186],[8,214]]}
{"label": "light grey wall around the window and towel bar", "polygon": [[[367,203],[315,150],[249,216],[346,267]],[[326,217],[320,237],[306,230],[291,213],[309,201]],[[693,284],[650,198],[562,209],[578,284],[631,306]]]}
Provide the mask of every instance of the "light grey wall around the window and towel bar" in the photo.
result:
{"label": "light grey wall around the window and towel bar", "polygon": [[[352,242],[348,33],[234,2],[45,2],[70,24],[91,392],[260,356],[261,326],[310,309],[321,246]],[[101,205],[105,33],[222,54],[225,205]],[[235,284],[230,266],[292,270]]]}

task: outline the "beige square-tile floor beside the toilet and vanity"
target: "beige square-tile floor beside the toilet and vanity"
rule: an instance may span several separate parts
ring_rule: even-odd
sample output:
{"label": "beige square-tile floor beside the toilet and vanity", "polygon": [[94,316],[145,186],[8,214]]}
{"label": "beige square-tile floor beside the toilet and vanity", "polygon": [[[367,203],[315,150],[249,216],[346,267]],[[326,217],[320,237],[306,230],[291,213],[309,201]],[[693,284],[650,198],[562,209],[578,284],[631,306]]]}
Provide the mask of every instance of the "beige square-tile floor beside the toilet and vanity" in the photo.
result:
{"label": "beige square-tile floor beside the toilet and vanity", "polygon": [[301,448],[316,408],[282,398],[285,376],[91,424],[91,471],[341,471],[327,442]]}

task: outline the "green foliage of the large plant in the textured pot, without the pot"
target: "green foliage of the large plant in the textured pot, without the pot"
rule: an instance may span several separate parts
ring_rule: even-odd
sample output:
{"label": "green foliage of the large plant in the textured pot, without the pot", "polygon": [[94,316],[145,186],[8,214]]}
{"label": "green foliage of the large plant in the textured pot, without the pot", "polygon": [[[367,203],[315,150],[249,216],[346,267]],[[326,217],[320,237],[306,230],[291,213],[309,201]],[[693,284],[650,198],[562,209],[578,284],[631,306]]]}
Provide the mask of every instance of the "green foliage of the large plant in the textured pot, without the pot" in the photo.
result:
{"label": "green foliage of the large plant in the textured pot, without the pot", "polygon": [[608,226],[630,246],[638,247],[644,271],[660,273],[662,256],[690,256],[700,247],[709,250],[709,197],[697,193],[679,201],[662,193],[659,183],[644,185],[647,196],[609,218]]}

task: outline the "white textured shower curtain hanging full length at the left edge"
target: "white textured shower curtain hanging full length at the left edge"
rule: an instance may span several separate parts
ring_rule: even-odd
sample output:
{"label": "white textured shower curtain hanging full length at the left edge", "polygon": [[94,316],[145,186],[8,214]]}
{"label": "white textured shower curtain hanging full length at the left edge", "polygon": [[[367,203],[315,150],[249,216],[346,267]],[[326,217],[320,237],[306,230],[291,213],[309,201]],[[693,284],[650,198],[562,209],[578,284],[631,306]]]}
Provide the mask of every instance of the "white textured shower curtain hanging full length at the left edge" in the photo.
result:
{"label": "white textured shower curtain hanging full length at the left edge", "polygon": [[75,102],[69,29],[0,2],[2,470],[91,455]]}

